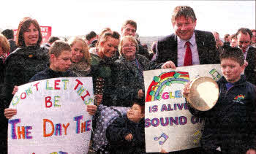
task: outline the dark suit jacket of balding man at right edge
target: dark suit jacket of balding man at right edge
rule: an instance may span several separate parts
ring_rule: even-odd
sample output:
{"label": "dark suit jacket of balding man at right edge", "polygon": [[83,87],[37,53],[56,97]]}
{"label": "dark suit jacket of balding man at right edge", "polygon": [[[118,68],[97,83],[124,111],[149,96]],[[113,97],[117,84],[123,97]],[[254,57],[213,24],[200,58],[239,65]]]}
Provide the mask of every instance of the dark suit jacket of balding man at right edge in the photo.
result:
{"label": "dark suit jacket of balding man at right edge", "polygon": [[248,62],[248,66],[246,66],[244,74],[246,80],[256,85],[256,48],[250,46],[247,51],[246,61]]}

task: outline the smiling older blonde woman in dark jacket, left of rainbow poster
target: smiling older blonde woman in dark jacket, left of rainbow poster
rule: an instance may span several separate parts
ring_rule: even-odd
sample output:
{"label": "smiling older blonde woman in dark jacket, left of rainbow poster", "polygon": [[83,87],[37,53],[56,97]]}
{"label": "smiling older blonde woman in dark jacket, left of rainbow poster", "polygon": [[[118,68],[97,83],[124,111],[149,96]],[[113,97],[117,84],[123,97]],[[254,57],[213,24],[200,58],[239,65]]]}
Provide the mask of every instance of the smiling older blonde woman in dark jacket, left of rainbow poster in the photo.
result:
{"label": "smiling older blonde woman in dark jacket, left of rainbow poster", "polygon": [[116,104],[131,107],[132,100],[143,99],[143,71],[151,69],[151,63],[143,55],[136,54],[138,42],[133,36],[124,36],[118,47],[119,59],[116,64]]}

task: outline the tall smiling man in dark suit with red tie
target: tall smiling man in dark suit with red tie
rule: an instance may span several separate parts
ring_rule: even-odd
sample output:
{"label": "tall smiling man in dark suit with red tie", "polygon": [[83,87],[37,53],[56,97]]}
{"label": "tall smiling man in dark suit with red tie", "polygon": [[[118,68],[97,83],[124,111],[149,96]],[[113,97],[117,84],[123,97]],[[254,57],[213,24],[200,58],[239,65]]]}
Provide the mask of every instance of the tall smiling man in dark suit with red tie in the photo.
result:
{"label": "tall smiling man in dark suit with red tie", "polygon": [[[191,7],[178,6],[172,15],[175,33],[160,39],[157,43],[157,63],[164,63],[162,69],[176,66],[219,63],[219,53],[213,34],[195,30],[197,18]],[[187,47],[191,50],[187,53]],[[190,56],[187,64],[187,55]]]}

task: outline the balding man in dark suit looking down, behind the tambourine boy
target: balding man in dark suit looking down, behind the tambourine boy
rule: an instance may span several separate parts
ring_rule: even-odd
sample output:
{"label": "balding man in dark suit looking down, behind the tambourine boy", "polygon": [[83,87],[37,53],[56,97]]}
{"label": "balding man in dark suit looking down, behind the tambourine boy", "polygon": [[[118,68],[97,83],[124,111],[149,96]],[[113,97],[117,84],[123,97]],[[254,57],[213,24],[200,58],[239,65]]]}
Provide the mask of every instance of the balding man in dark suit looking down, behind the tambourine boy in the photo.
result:
{"label": "balding man in dark suit looking down, behind the tambourine boy", "polygon": [[256,84],[256,48],[250,45],[252,40],[252,31],[248,28],[240,28],[236,32],[238,39],[238,47],[243,50],[244,58],[248,65],[244,70],[246,80],[252,84]]}

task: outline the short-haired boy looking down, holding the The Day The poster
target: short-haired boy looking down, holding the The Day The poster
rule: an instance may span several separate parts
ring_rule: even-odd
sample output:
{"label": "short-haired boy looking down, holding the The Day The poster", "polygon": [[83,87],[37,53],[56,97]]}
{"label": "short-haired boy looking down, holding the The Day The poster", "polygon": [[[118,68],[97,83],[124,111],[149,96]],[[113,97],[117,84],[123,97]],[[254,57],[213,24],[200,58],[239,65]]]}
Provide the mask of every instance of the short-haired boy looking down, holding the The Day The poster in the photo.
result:
{"label": "short-haired boy looking down, holding the The Day The poster", "polygon": [[[45,80],[56,77],[76,77],[76,75],[69,70],[71,65],[71,47],[67,42],[56,41],[51,45],[49,50],[50,56],[50,66],[38,72],[34,77],[29,80],[29,82],[34,82],[37,80]],[[18,87],[15,86],[12,94],[15,94],[18,91]],[[87,111],[90,115],[94,115],[97,112],[97,106],[87,105]],[[7,119],[12,118],[13,115],[17,114],[17,109],[7,108],[4,109],[4,116]]]}

